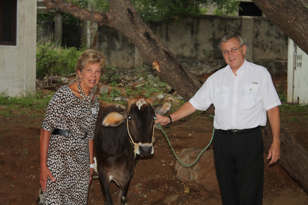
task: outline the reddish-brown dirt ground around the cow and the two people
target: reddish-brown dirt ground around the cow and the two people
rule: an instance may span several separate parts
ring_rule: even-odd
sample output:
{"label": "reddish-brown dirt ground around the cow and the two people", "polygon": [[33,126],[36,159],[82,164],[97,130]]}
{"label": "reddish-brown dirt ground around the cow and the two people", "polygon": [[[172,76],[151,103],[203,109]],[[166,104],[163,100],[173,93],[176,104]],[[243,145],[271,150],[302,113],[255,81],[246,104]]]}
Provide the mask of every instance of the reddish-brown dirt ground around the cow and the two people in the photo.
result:
{"label": "reddish-brown dirt ground around the cow and the two people", "polygon": [[[286,74],[273,77],[274,85],[286,90]],[[0,106],[0,111],[4,109]],[[39,192],[39,134],[45,110],[12,111],[13,117],[0,115],[0,205],[36,204]],[[290,120],[296,117],[298,120]],[[281,124],[308,149],[306,113],[281,113]],[[164,126],[173,148],[205,148],[212,136],[213,119],[205,112],[196,112],[184,120]],[[128,192],[130,205],[152,204],[158,197],[178,195],[174,204],[221,204],[219,195],[205,195],[190,189],[176,179],[175,158],[163,133],[155,131],[154,155],[140,159]],[[209,147],[212,149],[212,146]],[[263,204],[307,205],[308,197],[302,188],[279,165],[269,166],[265,154]],[[118,188],[111,183],[116,201]],[[159,193],[159,194],[157,194]],[[103,204],[99,181],[93,180],[88,204]],[[158,204],[164,204],[159,202]]]}

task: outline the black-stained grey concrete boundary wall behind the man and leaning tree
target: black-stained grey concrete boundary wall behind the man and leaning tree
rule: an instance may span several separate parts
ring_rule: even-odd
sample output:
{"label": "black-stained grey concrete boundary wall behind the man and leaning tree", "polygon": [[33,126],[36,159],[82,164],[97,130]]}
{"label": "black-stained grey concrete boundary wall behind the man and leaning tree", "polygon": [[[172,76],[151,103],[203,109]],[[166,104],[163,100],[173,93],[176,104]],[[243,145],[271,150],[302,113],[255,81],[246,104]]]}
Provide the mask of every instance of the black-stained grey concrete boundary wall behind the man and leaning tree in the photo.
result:
{"label": "black-stained grey concrete boundary wall behind the man and leaning tree", "polygon": [[[272,74],[287,70],[287,36],[266,17],[204,15],[179,22],[149,24],[149,27],[180,62],[197,75],[225,65],[219,45],[221,38],[230,33],[243,37],[248,61],[265,67],[270,64]],[[151,68],[141,59],[132,42],[110,27],[98,27],[96,47],[106,55],[107,66]]]}

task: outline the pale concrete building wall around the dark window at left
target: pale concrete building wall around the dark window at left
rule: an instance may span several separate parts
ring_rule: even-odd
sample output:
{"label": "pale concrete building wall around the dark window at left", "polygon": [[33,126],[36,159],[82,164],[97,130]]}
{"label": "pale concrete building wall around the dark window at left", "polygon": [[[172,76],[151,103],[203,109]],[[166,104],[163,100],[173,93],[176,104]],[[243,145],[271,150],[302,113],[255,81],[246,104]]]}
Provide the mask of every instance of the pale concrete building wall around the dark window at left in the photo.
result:
{"label": "pale concrete building wall around the dark window at left", "polygon": [[35,92],[36,1],[17,1],[16,46],[0,45],[0,93]]}

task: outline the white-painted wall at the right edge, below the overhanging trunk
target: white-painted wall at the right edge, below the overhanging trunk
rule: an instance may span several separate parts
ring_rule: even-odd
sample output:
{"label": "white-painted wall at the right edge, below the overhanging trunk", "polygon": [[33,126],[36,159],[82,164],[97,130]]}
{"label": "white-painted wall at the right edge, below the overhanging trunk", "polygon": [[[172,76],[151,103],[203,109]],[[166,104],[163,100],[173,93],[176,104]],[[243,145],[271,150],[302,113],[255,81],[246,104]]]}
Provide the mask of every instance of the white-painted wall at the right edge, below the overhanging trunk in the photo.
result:
{"label": "white-painted wall at the right edge, below the overhanging trunk", "polygon": [[288,102],[308,103],[308,55],[289,38]]}

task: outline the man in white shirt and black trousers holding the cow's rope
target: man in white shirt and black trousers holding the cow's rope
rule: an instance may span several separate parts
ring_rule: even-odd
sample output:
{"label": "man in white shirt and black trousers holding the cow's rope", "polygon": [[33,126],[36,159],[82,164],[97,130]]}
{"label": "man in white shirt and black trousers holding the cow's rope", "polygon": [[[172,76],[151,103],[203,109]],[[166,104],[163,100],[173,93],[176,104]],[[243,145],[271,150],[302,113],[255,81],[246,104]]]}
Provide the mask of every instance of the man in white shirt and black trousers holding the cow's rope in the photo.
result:
{"label": "man in white shirt and black trousers holding the cow's rope", "polygon": [[281,104],[270,73],[245,60],[246,45],[241,36],[222,38],[221,53],[228,64],[210,76],[188,102],[170,116],[157,116],[162,125],[198,110],[215,106],[213,151],[222,203],[262,204],[264,143],[260,126],[269,116],[273,136],[270,164],[280,157]]}

